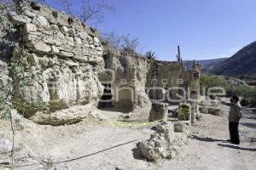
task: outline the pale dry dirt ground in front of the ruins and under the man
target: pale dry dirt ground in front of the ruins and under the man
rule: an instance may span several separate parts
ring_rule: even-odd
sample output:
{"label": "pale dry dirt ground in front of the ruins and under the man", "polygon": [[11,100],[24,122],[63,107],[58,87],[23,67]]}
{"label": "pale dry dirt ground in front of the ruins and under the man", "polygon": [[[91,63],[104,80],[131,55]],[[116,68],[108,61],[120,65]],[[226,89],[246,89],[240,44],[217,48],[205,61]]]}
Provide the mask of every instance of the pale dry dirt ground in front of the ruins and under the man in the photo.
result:
{"label": "pale dry dirt ground in front of the ruins and under the man", "polygon": [[[256,167],[256,113],[241,121],[241,144],[227,143],[227,107],[224,116],[203,115],[191,127],[188,144],[174,160],[149,163],[139,155],[137,142],[148,139],[150,126],[128,127],[111,123],[39,126],[22,119],[15,133],[19,170],[254,170]],[[99,111],[111,120],[123,113]],[[9,137],[9,123],[0,122],[0,137]],[[17,162],[18,161],[18,162]],[[49,162],[59,161],[57,164]],[[65,162],[61,162],[65,161]],[[56,168],[55,168],[56,167]],[[0,169],[3,167],[0,167]]]}

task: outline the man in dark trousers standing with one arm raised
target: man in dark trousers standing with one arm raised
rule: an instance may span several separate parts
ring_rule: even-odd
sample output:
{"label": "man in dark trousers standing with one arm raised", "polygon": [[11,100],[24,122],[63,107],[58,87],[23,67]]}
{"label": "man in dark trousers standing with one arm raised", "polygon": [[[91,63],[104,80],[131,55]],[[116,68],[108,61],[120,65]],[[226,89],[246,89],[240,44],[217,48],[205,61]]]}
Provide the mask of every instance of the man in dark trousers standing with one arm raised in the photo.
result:
{"label": "man in dark trousers standing with one arm raised", "polygon": [[241,105],[239,104],[239,98],[236,95],[233,95],[230,99],[229,103],[224,103],[224,105],[230,106],[230,114],[229,114],[229,128],[230,128],[230,142],[232,144],[240,144],[239,139],[239,121],[242,117],[242,109]]}

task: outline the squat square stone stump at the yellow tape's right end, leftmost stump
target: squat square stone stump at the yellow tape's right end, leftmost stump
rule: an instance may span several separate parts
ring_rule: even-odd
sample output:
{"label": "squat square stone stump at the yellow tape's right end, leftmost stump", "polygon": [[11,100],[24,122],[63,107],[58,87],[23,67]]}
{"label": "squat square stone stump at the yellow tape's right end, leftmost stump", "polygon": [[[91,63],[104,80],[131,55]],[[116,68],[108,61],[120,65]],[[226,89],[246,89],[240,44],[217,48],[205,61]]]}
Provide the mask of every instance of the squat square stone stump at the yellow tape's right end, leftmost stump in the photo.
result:
{"label": "squat square stone stump at the yellow tape's right end, leftmost stump", "polygon": [[163,103],[152,103],[149,113],[149,122],[166,121],[168,114],[168,105]]}

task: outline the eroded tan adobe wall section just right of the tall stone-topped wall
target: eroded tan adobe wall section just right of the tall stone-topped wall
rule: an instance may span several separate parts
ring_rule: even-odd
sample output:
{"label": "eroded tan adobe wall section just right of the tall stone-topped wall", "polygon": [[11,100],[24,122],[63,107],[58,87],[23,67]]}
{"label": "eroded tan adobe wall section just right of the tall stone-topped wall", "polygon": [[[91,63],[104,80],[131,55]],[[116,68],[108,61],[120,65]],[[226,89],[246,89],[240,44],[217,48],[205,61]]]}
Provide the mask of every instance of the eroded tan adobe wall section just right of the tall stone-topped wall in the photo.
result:
{"label": "eroded tan adobe wall section just right of the tall stone-topped wall", "polygon": [[150,67],[148,59],[113,49],[104,55],[104,59],[105,68],[113,73],[103,72],[100,79],[101,82],[111,84],[113,106],[128,111],[138,107],[150,107],[145,86]]}

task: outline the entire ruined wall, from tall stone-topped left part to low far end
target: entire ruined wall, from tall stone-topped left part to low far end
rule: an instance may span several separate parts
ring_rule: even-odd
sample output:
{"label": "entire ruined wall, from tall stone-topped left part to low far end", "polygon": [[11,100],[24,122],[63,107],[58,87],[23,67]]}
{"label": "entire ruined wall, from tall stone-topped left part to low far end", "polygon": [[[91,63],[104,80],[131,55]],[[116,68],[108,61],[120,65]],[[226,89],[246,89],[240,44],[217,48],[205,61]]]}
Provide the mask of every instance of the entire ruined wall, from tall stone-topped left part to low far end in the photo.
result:
{"label": "entire ruined wall, from tall stone-topped left part to low far end", "polygon": [[[17,13],[9,14],[11,22],[19,27],[21,38],[12,61],[21,59],[23,65],[31,67],[26,71],[31,78],[28,86],[14,87],[13,100],[22,105],[43,102],[49,106],[47,112],[23,108],[25,116],[34,122],[60,125],[73,117],[79,120],[98,106],[104,83],[110,82],[113,88],[113,106],[129,111],[138,107],[150,109],[146,90],[155,86],[150,82],[152,78],[157,79],[157,86],[161,88],[177,86],[178,78],[183,78],[186,86],[192,83],[199,86],[193,82],[193,71],[186,71],[177,62],[109,51],[94,29],[67,14],[26,1],[18,7]],[[105,69],[114,72],[113,82],[112,75]],[[162,79],[168,83],[163,84]],[[134,90],[134,100],[131,101],[132,96],[125,88]]]}

